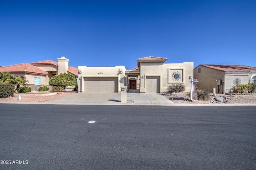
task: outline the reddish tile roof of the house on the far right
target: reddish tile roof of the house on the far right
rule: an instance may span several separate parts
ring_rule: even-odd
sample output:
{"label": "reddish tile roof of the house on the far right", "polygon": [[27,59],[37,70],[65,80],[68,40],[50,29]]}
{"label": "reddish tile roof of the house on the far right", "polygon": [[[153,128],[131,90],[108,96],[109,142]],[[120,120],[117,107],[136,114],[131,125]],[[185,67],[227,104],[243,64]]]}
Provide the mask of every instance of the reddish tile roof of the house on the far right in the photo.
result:
{"label": "reddish tile roof of the house on the far right", "polygon": [[243,65],[212,65],[212,64],[200,64],[199,66],[220,70],[223,72],[248,72],[255,70],[256,67],[243,66]]}

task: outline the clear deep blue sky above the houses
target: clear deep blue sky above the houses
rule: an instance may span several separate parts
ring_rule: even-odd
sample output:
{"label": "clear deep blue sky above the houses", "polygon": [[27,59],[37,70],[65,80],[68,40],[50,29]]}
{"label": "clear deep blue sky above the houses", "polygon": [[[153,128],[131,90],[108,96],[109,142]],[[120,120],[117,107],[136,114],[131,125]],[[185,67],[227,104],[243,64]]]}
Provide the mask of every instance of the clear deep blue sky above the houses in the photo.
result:
{"label": "clear deep blue sky above the houses", "polygon": [[166,63],[256,67],[255,0],[0,0],[0,66]]}

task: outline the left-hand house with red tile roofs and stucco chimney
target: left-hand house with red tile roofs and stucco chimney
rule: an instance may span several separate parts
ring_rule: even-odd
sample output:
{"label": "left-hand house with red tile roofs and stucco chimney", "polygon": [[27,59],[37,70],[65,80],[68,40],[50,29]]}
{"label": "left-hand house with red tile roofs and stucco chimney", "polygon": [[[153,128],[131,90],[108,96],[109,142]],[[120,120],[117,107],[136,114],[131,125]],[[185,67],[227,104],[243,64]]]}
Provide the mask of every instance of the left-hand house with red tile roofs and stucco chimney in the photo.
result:
{"label": "left-hand house with red tile roofs and stucco chimney", "polygon": [[[38,90],[40,86],[48,86],[52,76],[60,73],[70,73],[77,77],[78,69],[68,66],[69,59],[61,57],[58,62],[45,60],[32,63],[15,64],[11,66],[0,67],[0,72],[10,72],[14,76],[21,76],[28,81],[28,87],[32,90]],[[50,86],[49,86],[50,88]]]}

